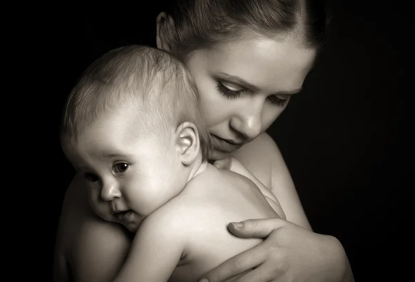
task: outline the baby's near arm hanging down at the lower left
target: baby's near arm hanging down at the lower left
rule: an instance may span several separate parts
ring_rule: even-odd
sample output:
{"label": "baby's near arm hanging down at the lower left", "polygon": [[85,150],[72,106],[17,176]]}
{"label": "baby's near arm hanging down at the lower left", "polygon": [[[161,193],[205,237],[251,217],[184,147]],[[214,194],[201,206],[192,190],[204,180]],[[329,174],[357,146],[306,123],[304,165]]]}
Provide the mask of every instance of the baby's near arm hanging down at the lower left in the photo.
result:
{"label": "baby's near arm hanging down at the lower left", "polygon": [[[160,207],[163,209],[163,207]],[[171,212],[171,211],[170,211]],[[115,282],[167,282],[184,250],[181,225],[156,211],[142,222]]]}

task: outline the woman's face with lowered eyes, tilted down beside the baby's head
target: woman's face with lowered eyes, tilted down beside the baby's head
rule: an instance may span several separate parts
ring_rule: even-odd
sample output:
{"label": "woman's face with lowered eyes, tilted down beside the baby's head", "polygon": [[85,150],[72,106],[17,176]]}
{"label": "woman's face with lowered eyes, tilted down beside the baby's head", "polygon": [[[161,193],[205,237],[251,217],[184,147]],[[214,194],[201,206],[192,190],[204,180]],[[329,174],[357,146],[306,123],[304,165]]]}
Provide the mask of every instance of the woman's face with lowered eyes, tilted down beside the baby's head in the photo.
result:
{"label": "woman's face with lowered eyes, tilted down beside the baby's head", "polygon": [[315,50],[295,39],[247,38],[196,50],[185,62],[199,89],[214,159],[266,131],[301,91],[315,58]]}

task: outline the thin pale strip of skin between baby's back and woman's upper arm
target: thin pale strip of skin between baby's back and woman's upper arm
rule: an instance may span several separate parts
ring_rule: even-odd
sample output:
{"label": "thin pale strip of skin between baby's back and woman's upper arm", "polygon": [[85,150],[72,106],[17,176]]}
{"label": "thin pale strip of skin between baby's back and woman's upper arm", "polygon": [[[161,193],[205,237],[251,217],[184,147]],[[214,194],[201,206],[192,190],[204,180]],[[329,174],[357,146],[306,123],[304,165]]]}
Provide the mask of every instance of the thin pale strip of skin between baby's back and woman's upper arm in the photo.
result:
{"label": "thin pale strip of skin between baby's back and woman's upper arm", "polygon": [[[264,194],[266,200],[268,201],[268,203],[270,204],[271,207],[273,207],[273,209],[275,210],[275,212],[281,216],[282,219],[286,219],[286,215],[284,214],[284,211],[282,210],[281,205],[279,205],[279,201],[277,200],[277,197],[275,197],[275,195],[273,194],[272,191],[270,191],[270,189],[268,189],[267,187],[265,187],[264,184],[262,184],[261,181],[259,181],[255,176],[252,175],[252,173],[250,173],[250,171],[248,171],[248,169],[246,169],[243,164],[241,162],[239,162],[239,160],[237,160],[237,158],[235,157],[230,157],[230,159],[228,160],[224,160],[224,162],[228,162],[225,165],[225,169],[228,169],[230,171],[236,172],[241,174],[242,176],[245,176],[246,178],[249,178],[252,182],[255,183],[255,185],[257,185],[257,187],[259,188],[259,190],[261,190],[262,194]],[[218,166],[218,162],[215,163],[215,166]],[[220,166],[220,164],[219,164]]]}

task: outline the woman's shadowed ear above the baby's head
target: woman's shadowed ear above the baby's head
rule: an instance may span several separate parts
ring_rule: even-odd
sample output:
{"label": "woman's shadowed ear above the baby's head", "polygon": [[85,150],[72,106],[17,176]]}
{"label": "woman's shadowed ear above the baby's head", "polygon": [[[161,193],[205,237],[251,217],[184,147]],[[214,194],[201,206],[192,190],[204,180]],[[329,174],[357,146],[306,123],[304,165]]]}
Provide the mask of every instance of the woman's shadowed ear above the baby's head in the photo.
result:
{"label": "woman's shadowed ear above the baby's head", "polygon": [[156,44],[157,48],[172,53],[172,34],[174,20],[166,12],[160,12],[156,19]]}

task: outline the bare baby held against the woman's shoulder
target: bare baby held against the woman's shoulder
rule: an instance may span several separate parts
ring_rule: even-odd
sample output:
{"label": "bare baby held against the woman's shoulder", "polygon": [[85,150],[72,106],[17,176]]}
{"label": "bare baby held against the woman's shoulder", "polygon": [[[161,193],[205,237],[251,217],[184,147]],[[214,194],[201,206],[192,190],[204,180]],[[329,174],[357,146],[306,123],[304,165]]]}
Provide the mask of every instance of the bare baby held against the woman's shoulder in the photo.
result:
{"label": "bare baby held against the woman's shoulder", "polygon": [[233,236],[229,222],[284,216],[237,160],[232,171],[208,162],[192,77],[156,48],[124,46],[93,62],[68,97],[61,142],[93,211],[136,233],[116,281],[199,281],[261,242]]}

